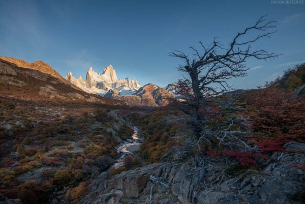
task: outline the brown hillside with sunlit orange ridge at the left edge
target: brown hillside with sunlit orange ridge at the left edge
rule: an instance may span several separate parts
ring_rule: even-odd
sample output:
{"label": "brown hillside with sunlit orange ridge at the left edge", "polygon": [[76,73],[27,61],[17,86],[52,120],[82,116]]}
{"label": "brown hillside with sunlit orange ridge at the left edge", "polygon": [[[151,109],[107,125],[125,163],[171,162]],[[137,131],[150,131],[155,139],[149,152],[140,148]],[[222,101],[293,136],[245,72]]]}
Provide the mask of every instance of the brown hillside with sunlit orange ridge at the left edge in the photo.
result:
{"label": "brown hillside with sunlit orange ridge at the left edge", "polygon": [[78,89],[44,62],[29,64],[22,60],[2,57],[0,59],[0,79],[0,94],[3,97],[35,101],[120,103]]}

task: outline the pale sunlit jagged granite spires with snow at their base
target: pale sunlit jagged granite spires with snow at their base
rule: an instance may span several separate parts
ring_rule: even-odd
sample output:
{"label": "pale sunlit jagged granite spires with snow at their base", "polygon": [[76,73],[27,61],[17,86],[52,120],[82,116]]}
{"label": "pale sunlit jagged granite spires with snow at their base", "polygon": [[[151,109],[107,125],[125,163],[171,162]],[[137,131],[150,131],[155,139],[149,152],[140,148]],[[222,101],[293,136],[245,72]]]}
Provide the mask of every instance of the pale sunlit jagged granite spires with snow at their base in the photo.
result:
{"label": "pale sunlit jagged granite spires with snow at their base", "polygon": [[90,67],[85,80],[81,76],[75,78],[71,72],[67,74],[66,79],[91,94],[106,94],[109,90],[117,90],[118,92],[123,90],[137,91],[141,87],[137,80],[131,80],[129,77],[118,79],[112,65],[105,67],[102,74],[95,72]]}

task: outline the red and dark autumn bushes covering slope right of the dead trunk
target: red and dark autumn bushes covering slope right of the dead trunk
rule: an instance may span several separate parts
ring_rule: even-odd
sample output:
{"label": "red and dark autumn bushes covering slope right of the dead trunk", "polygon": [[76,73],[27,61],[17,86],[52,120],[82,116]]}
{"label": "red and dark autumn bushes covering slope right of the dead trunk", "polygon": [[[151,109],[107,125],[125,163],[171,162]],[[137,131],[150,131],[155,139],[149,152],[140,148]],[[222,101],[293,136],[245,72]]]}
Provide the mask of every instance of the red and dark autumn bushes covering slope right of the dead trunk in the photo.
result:
{"label": "red and dark autumn bushes covering slope right of the dead trunk", "polygon": [[[304,142],[304,71],[305,65],[298,65],[257,90],[210,97],[205,109],[198,110],[205,116],[207,137],[198,140],[195,149],[211,158],[231,161],[226,172],[238,174],[259,170],[272,153],[285,152],[287,142]],[[214,135],[208,137],[211,133]],[[225,143],[225,133],[232,133],[227,140],[233,142],[230,145]]]}

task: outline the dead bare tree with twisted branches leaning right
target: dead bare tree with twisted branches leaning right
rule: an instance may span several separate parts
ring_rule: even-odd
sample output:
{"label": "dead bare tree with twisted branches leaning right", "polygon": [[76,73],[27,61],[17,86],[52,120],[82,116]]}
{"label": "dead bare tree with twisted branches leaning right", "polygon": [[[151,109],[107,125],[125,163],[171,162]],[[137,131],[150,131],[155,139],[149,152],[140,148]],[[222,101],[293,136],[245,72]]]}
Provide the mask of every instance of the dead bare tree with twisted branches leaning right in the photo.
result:
{"label": "dead bare tree with twisted branches leaning right", "polygon": [[[170,56],[184,61],[184,65],[178,66],[178,71],[188,73],[188,76],[180,79],[178,83],[179,89],[184,90],[182,95],[185,99],[184,105],[180,107],[187,106],[188,112],[192,112],[197,140],[208,131],[205,129],[206,114],[200,110],[206,109],[206,103],[211,96],[232,90],[227,80],[247,75],[249,68],[246,66],[246,60],[254,57],[257,60],[267,61],[279,56],[265,49],[252,48],[253,43],[262,38],[270,38],[271,34],[277,32],[276,21],[267,21],[265,17],[266,15],[260,17],[254,25],[237,33],[227,47],[215,38],[211,45],[204,45],[199,41],[200,50],[191,46],[190,49],[193,51],[191,56],[179,50],[170,53]],[[252,37],[249,35],[250,32],[257,32],[257,36]],[[235,138],[233,133],[219,132],[222,135],[219,137],[220,142],[228,137]]]}

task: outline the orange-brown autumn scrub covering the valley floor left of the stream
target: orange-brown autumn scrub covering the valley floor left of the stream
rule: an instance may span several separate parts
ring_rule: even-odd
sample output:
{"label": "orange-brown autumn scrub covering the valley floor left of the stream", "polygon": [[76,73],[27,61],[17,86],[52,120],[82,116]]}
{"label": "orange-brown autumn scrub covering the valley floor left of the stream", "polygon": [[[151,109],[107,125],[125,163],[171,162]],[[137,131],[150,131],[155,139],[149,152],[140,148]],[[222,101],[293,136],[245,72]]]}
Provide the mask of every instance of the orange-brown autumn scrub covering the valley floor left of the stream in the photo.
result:
{"label": "orange-brown autumn scrub covering the valley floor left of the stream", "polygon": [[115,134],[130,129],[116,129],[120,123],[109,109],[70,105],[0,98],[0,193],[25,204],[49,203],[64,190],[64,199],[76,203],[91,178],[112,164]]}

